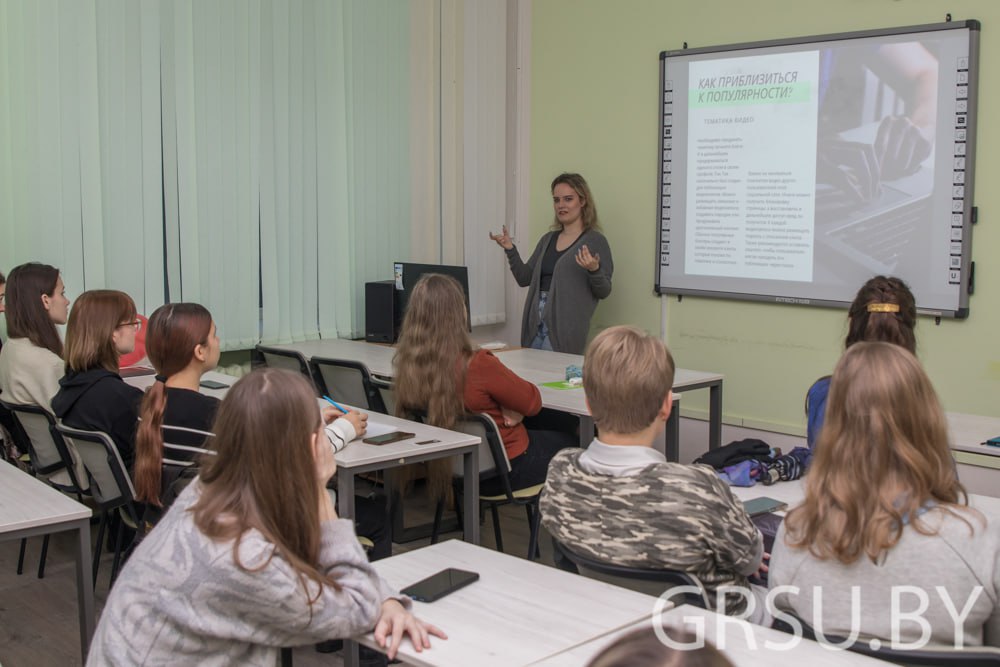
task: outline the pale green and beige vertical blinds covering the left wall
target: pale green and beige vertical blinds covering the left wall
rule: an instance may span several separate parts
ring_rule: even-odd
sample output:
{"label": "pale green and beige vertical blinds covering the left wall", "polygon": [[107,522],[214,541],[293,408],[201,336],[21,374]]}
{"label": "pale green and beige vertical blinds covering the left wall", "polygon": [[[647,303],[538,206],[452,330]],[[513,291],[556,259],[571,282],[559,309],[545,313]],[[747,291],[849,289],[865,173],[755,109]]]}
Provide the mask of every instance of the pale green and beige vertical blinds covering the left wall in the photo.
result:
{"label": "pale green and beige vertical blinds covering the left wall", "polygon": [[474,321],[502,319],[504,7],[0,0],[0,270],[201,302],[224,349],[362,334],[397,260],[467,264]]}

